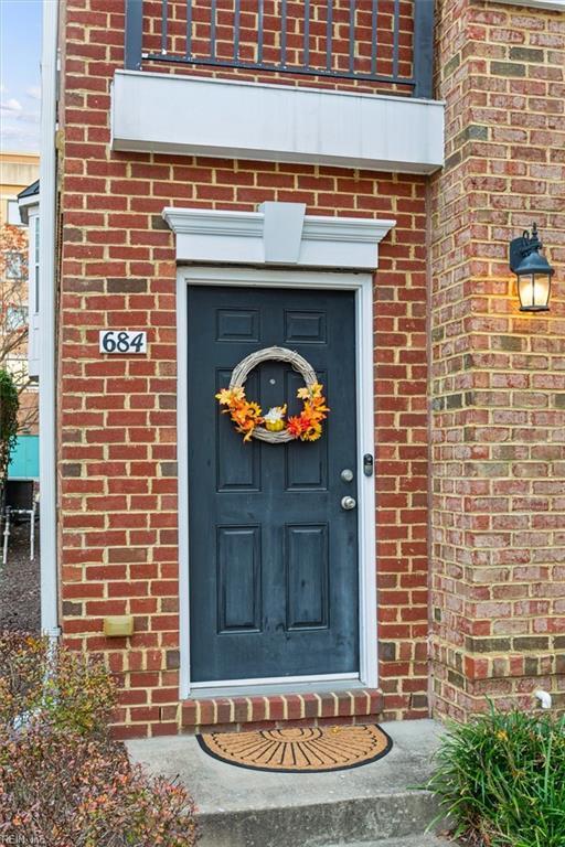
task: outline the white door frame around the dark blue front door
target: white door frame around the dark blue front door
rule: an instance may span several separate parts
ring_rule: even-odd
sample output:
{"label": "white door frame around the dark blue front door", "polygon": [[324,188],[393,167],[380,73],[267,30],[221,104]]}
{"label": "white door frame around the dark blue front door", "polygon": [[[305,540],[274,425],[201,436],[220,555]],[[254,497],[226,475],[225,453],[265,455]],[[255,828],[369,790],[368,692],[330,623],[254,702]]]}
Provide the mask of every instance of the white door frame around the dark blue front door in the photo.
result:
{"label": "white door frame around the dark blue front door", "polygon": [[[363,454],[374,455],[373,378],[373,277],[371,274],[339,274],[253,268],[180,267],[177,275],[178,346],[178,464],[179,464],[179,592],[180,592],[180,697],[191,696],[190,602],[189,602],[189,454],[188,454],[188,286],[245,286],[298,289],[333,289],[355,292],[356,394],[358,394],[358,519],[359,519],[359,612],[360,682],[377,685],[375,480],[363,473]],[[189,645],[189,646],[186,646]],[[319,677],[294,677],[316,682]],[[331,677],[330,677],[331,678]],[[335,682],[340,675],[335,675]],[[262,679],[262,685],[271,682]],[[287,680],[289,682],[289,680]],[[214,684],[215,685],[215,684]],[[220,685],[220,683],[217,684]],[[235,685],[223,682],[222,688]],[[242,683],[238,683],[241,687]],[[210,683],[206,688],[210,688]],[[192,696],[198,695],[194,687]]]}

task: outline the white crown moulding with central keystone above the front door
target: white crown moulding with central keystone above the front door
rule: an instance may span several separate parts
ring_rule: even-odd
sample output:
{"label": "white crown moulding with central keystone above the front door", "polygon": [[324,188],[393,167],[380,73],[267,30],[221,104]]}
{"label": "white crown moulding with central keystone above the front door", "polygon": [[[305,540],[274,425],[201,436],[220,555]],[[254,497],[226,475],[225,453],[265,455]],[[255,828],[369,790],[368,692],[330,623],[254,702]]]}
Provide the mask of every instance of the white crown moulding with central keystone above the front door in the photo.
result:
{"label": "white crown moulding with central keystone above the front door", "polygon": [[303,203],[263,203],[257,212],[163,208],[178,262],[230,262],[374,270],[379,243],[396,221],[307,215]]}

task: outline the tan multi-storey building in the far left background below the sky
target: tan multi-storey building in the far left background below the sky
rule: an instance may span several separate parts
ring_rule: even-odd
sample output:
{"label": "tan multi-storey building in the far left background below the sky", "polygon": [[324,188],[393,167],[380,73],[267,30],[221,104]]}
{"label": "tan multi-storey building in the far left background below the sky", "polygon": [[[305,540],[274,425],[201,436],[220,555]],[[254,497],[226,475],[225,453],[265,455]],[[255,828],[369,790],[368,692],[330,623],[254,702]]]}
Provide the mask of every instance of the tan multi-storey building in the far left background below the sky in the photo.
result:
{"label": "tan multi-storey building in the far left background below the sky", "polygon": [[20,216],[19,197],[36,180],[39,161],[34,153],[0,153],[0,360],[20,387],[20,431],[33,438],[38,433],[38,386],[28,354],[33,283],[29,279],[28,222]]}

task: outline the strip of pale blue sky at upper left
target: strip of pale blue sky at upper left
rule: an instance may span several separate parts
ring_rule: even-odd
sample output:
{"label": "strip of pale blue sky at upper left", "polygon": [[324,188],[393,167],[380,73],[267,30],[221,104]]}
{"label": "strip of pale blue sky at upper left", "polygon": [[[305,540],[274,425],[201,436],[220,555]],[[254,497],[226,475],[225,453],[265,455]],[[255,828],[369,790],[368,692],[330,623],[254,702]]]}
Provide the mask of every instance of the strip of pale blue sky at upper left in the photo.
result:
{"label": "strip of pale blue sky at upper left", "polygon": [[40,149],[41,6],[41,0],[0,0],[2,152]]}

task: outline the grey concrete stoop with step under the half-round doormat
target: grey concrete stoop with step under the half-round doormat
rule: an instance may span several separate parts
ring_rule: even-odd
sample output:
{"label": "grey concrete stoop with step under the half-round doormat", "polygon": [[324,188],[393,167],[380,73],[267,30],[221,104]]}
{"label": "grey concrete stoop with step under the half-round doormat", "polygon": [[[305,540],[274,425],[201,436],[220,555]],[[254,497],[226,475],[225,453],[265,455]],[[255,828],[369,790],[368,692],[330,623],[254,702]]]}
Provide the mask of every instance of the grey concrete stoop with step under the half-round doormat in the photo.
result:
{"label": "grey concrete stoop with step under the half-round doormat", "polygon": [[149,771],[179,781],[199,808],[199,847],[440,847],[426,835],[437,807],[415,791],[431,771],[439,726],[384,723],[392,751],[332,773],[268,773],[224,764],[192,737],[128,742]]}

